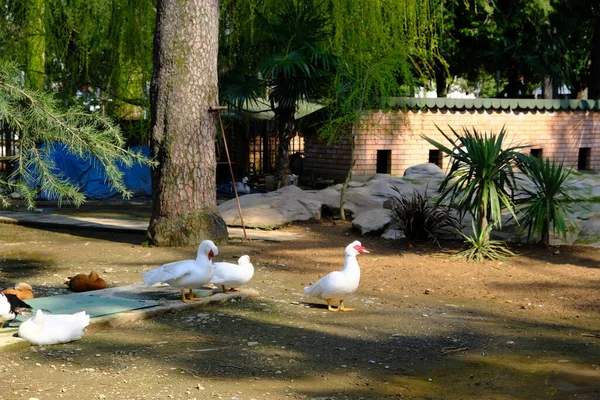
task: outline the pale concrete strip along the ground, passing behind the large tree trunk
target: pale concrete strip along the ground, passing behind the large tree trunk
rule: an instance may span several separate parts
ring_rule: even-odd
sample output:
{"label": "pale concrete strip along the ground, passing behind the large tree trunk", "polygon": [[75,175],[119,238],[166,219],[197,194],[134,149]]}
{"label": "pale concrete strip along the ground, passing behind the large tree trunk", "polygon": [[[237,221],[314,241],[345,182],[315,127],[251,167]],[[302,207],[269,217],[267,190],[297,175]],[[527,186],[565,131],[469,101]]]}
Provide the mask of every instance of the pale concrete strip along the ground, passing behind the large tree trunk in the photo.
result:
{"label": "pale concrete strip along the ground, passing behind the large tree trunk", "polygon": [[[0,211],[0,223],[24,226],[48,226],[53,228],[91,229],[112,232],[146,232],[148,221],[127,218],[92,218],[60,214],[46,214],[25,211]],[[227,227],[230,238],[243,239],[242,228]],[[251,240],[286,242],[297,240],[300,234],[280,231],[246,229],[246,237]]]}

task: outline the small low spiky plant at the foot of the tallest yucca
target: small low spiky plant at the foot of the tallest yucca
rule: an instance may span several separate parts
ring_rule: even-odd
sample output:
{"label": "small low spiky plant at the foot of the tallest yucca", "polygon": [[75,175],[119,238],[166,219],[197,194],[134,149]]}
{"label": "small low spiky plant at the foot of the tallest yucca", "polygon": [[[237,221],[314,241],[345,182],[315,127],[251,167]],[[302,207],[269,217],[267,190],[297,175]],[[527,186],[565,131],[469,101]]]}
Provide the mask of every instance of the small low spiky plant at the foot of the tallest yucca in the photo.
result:
{"label": "small low spiky plant at the foot of the tallest yucca", "polygon": [[464,258],[467,261],[475,260],[482,262],[483,260],[506,260],[507,256],[514,256],[515,253],[510,251],[506,243],[502,240],[490,239],[492,233],[492,225],[485,227],[485,230],[478,231],[475,226],[475,221],[472,221],[473,236],[467,236],[460,232],[465,238],[465,243],[468,245],[466,250],[463,250],[453,256],[453,258]]}

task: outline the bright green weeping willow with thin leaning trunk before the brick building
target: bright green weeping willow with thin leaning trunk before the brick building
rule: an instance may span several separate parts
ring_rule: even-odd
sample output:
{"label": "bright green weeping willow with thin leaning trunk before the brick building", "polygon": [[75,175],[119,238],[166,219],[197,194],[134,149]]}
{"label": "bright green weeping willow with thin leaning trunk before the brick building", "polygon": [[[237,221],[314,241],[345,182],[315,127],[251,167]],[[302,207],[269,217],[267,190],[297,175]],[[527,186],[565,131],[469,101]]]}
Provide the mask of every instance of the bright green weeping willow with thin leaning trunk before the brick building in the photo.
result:
{"label": "bright green weeping willow with thin leaning trunk before the brick building", "polygon": [[[335,54],[346,62],[329,96],[330,118],[321,129],[329,142],[347,141],[352,154],[340,196],[340,214],[355,163],[355,139],[367,129],[368,110],[386,108],[391,96],[412,94],[440,60],[439,10],[430,0],[329,0]],[[392,134],[392,131],[390,131]]]}

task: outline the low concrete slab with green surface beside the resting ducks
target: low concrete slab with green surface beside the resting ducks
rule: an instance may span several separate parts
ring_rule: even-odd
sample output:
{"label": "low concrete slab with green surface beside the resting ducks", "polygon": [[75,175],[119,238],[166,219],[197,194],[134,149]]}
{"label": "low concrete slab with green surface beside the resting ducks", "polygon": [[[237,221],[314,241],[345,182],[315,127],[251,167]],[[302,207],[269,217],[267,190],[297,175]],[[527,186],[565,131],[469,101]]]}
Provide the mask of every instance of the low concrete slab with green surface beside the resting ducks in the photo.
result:
{"label": "low concrete slab with green surface beside the resting ducks", "polygon": [[[244,289],[234,293],[215,293],[211,288],[201,288],[194,291],[200,297],[199,301],[184,303],[180,291],[168,285],[145,286],[141,283],[117,286],[93,292],[72,293],[62,296],[39,297],[29,300],[34,308],[59,313],[74,313],[86,311],[92,317],[90,326],[108,324],[118,327],[134,321],[146,319],[155,315],[173,311],[189,310],[214,303],[227,303],[233,300],[243,300],[258,296],[258,291]],[[12,346],[27,346],[25,339],[15,337],[18,325],[29,317],[20,317],[17,323],[0,329],[0,350]]]}

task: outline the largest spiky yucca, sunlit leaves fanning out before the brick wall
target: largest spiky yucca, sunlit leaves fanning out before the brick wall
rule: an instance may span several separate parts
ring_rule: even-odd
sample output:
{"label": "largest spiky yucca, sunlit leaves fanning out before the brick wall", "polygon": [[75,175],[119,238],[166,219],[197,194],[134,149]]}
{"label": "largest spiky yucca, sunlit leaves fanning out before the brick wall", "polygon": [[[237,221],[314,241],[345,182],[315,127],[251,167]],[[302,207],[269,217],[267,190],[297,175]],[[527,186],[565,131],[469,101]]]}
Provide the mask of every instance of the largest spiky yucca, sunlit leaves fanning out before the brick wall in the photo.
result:
{"label": "largest spiky yucca, sunlit leaves fanning out before the brick wall", "polygon": [[516,220],[513,194],[517,183],[513,169],[521,162],[518,150],[525,146],[505,147],[504,128],[497,135],[480,134],[474,128],[472,131],[463,128],[463,134],[460,135],[450,127],[454,137],[439,127],[438,130],[450,146],[423,137],[451,157],[450,172],[439,187],[438,204],[449,202],[461,217],[470,213],[476,228],[474,232],[478,232],[478,236],[483,235],[476,241],[485,246],[489,242],[492,227],[502,226],[503,209]]}

